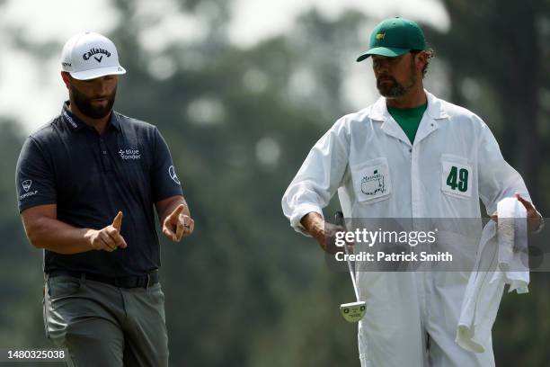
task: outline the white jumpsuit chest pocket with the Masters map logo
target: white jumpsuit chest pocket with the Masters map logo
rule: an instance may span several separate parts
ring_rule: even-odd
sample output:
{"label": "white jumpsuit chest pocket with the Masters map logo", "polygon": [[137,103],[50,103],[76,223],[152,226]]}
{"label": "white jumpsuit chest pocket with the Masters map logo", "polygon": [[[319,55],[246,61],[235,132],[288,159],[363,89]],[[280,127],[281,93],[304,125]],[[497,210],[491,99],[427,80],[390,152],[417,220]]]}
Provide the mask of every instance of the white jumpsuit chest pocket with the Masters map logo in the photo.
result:
{"label": "white jumpsuit chest pocket with the Masters map logo", "polygon": [[386,157],[351,166],[350,171],[357,201],[366,204],[390,197],[392,182]]}

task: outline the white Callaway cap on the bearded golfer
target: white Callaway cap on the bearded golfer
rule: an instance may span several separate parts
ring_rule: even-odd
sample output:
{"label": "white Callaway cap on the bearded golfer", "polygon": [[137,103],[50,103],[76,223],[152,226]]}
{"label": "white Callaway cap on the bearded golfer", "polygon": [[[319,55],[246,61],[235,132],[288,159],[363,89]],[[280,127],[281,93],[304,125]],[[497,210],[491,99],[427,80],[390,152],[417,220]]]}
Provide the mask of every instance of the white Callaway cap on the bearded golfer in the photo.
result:
{"label": "white Callaway cap on the bearded golfer", "polygon": [[92,31],[67,40],[61,52],[61,70],[79,80],[126,73],[114,43]]}

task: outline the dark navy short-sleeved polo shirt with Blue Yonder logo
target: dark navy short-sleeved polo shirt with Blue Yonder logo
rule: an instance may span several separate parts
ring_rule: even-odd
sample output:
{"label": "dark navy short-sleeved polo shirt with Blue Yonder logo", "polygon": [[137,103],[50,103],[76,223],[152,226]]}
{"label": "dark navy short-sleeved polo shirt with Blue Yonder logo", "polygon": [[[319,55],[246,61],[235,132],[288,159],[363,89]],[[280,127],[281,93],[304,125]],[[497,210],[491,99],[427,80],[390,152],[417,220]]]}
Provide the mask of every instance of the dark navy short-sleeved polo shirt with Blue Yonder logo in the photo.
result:
{"label": "dark navy short-sleeved polo shirt with Blue Yonder logo", "polygon": [[160,266],[154,204],[182,195],[182,186],[154,125],[113,111],[100,135],[65,103],[58,117],[25,140],[15,181],[20,212],[57,204],[58,220],[93,229],[109,226],[119,210],[124,214],[120,233],[127,248],[75,255],[45,250],[46,273],[124,276]]}

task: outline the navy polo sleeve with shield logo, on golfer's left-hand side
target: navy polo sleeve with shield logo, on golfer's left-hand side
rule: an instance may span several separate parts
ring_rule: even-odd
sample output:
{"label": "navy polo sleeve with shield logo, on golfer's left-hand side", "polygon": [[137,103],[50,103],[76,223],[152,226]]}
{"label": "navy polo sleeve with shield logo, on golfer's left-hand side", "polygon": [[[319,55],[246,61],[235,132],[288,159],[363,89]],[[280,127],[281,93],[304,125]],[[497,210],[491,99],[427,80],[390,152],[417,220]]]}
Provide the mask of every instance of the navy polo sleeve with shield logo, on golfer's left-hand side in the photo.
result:
{"label": "navy polo sleeve with shield logo, on golfer's left-hand side", "polygon": [[38,206],[57,203],[54,172],[38,143],[25,140],[15,171],[15,186],[19,212]]}

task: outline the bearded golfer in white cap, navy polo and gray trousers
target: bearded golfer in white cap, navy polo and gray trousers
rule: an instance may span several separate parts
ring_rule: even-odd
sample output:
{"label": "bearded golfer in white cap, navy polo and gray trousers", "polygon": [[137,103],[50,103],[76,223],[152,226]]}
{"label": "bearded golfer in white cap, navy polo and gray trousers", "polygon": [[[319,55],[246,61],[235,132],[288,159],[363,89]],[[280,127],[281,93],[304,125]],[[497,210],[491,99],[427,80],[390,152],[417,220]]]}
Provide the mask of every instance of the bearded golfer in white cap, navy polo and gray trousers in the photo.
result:
{"label": "bearded golfer in white cap, navy polo and gray trousers", "polygon": [[154,125],[112,111],[115,45],[85,32],[67,41],[69,99],[25,140],[17,162],[19,210],[44,249],[47,336],[70,366],[167,366],[155,212],[180,241],[193,219]]}

